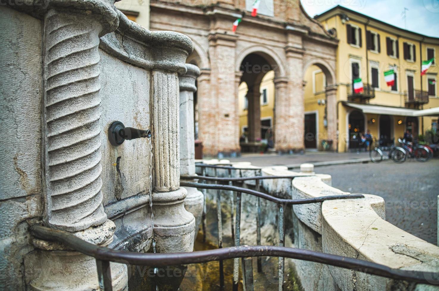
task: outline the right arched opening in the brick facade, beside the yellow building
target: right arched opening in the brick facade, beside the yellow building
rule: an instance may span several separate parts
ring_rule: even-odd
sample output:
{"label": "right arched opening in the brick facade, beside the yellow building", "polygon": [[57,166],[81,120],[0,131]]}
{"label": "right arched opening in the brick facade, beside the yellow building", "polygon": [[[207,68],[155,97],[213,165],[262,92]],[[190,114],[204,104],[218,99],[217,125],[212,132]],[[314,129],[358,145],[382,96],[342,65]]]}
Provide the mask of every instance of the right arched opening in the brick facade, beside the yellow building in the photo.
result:
{"label": "right arched opening in the brick facade, beside the yellow building", "polygon": [[319,62],[309,62],[304,75],[305,132],[307,150],[334,149],[337,144],[337,101],[334,75]]}

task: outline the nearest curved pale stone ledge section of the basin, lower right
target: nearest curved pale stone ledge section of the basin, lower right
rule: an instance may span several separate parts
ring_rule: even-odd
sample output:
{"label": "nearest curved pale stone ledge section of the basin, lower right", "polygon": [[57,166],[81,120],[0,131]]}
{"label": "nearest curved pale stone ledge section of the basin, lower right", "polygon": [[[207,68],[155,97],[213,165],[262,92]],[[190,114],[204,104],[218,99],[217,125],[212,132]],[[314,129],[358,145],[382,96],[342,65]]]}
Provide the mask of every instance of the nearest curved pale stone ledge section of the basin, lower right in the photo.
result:
{"label": "nearest curved pale stone ledge section of the basin, lower right", "polygon": [[[322,203],[323,251],[394,269],[438,272],[439,248],[384,220],[384,199],[328,200]],[[342,290],[409,288],[403,282],[329,266]],[[421,287],[423,286],[423,287]],[[425,285],[418,285],[423,289]],[[438,287],[428,286],[431,290]],[[392,289],[392,290],[393,290]]]}

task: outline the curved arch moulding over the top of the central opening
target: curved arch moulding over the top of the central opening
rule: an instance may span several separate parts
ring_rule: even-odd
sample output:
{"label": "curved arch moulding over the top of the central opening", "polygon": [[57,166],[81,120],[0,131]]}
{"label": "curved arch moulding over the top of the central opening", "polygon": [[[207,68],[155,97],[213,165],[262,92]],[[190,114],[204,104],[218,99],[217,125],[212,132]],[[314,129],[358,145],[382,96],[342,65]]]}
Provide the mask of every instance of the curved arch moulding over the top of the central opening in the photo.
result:
{"label": "curved arch moulding over the top of the central opening", "polygon": [[273,70],[276,78],[284,78],[286,76],[286,69],[284,67],[285,62],[282,61],[282,58],[274,50],[271,50],[269,47],[260,46],[260,45],[248,46],[237,54],[236,57],[237,72],[241,71],[242,61],[245,59],[245,57],[247,57],[251,53],[255,53],[265,58],[271,64],[276,65],[277,68]]}

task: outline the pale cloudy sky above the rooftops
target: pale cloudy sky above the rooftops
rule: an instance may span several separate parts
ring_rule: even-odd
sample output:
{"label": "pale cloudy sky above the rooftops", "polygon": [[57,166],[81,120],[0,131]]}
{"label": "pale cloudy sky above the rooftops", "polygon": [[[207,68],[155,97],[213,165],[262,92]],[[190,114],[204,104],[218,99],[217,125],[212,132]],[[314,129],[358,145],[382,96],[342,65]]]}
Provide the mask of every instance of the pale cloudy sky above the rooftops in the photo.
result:
{"label": "pale cloudy sky above the rooftops", "polygon": [[402,13],[407,11],[407,29],[439,37],[439,0],[301,0],[303,8],[314,17],[337,5],[405,28]]}

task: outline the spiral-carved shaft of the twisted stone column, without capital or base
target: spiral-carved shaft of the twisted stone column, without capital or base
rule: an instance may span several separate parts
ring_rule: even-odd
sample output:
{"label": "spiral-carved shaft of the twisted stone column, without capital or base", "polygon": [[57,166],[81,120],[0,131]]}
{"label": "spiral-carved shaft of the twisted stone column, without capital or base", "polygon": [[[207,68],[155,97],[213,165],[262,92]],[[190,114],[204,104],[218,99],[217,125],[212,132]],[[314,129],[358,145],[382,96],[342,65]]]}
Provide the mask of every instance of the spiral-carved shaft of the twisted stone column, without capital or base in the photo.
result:
{"label": "spiral-carved shaft of the twisted stone column, without capital or base", "polygon": [[44,21],[47,223],[66,231],[103,224],[99,33],[94,18],[56,10]]}

